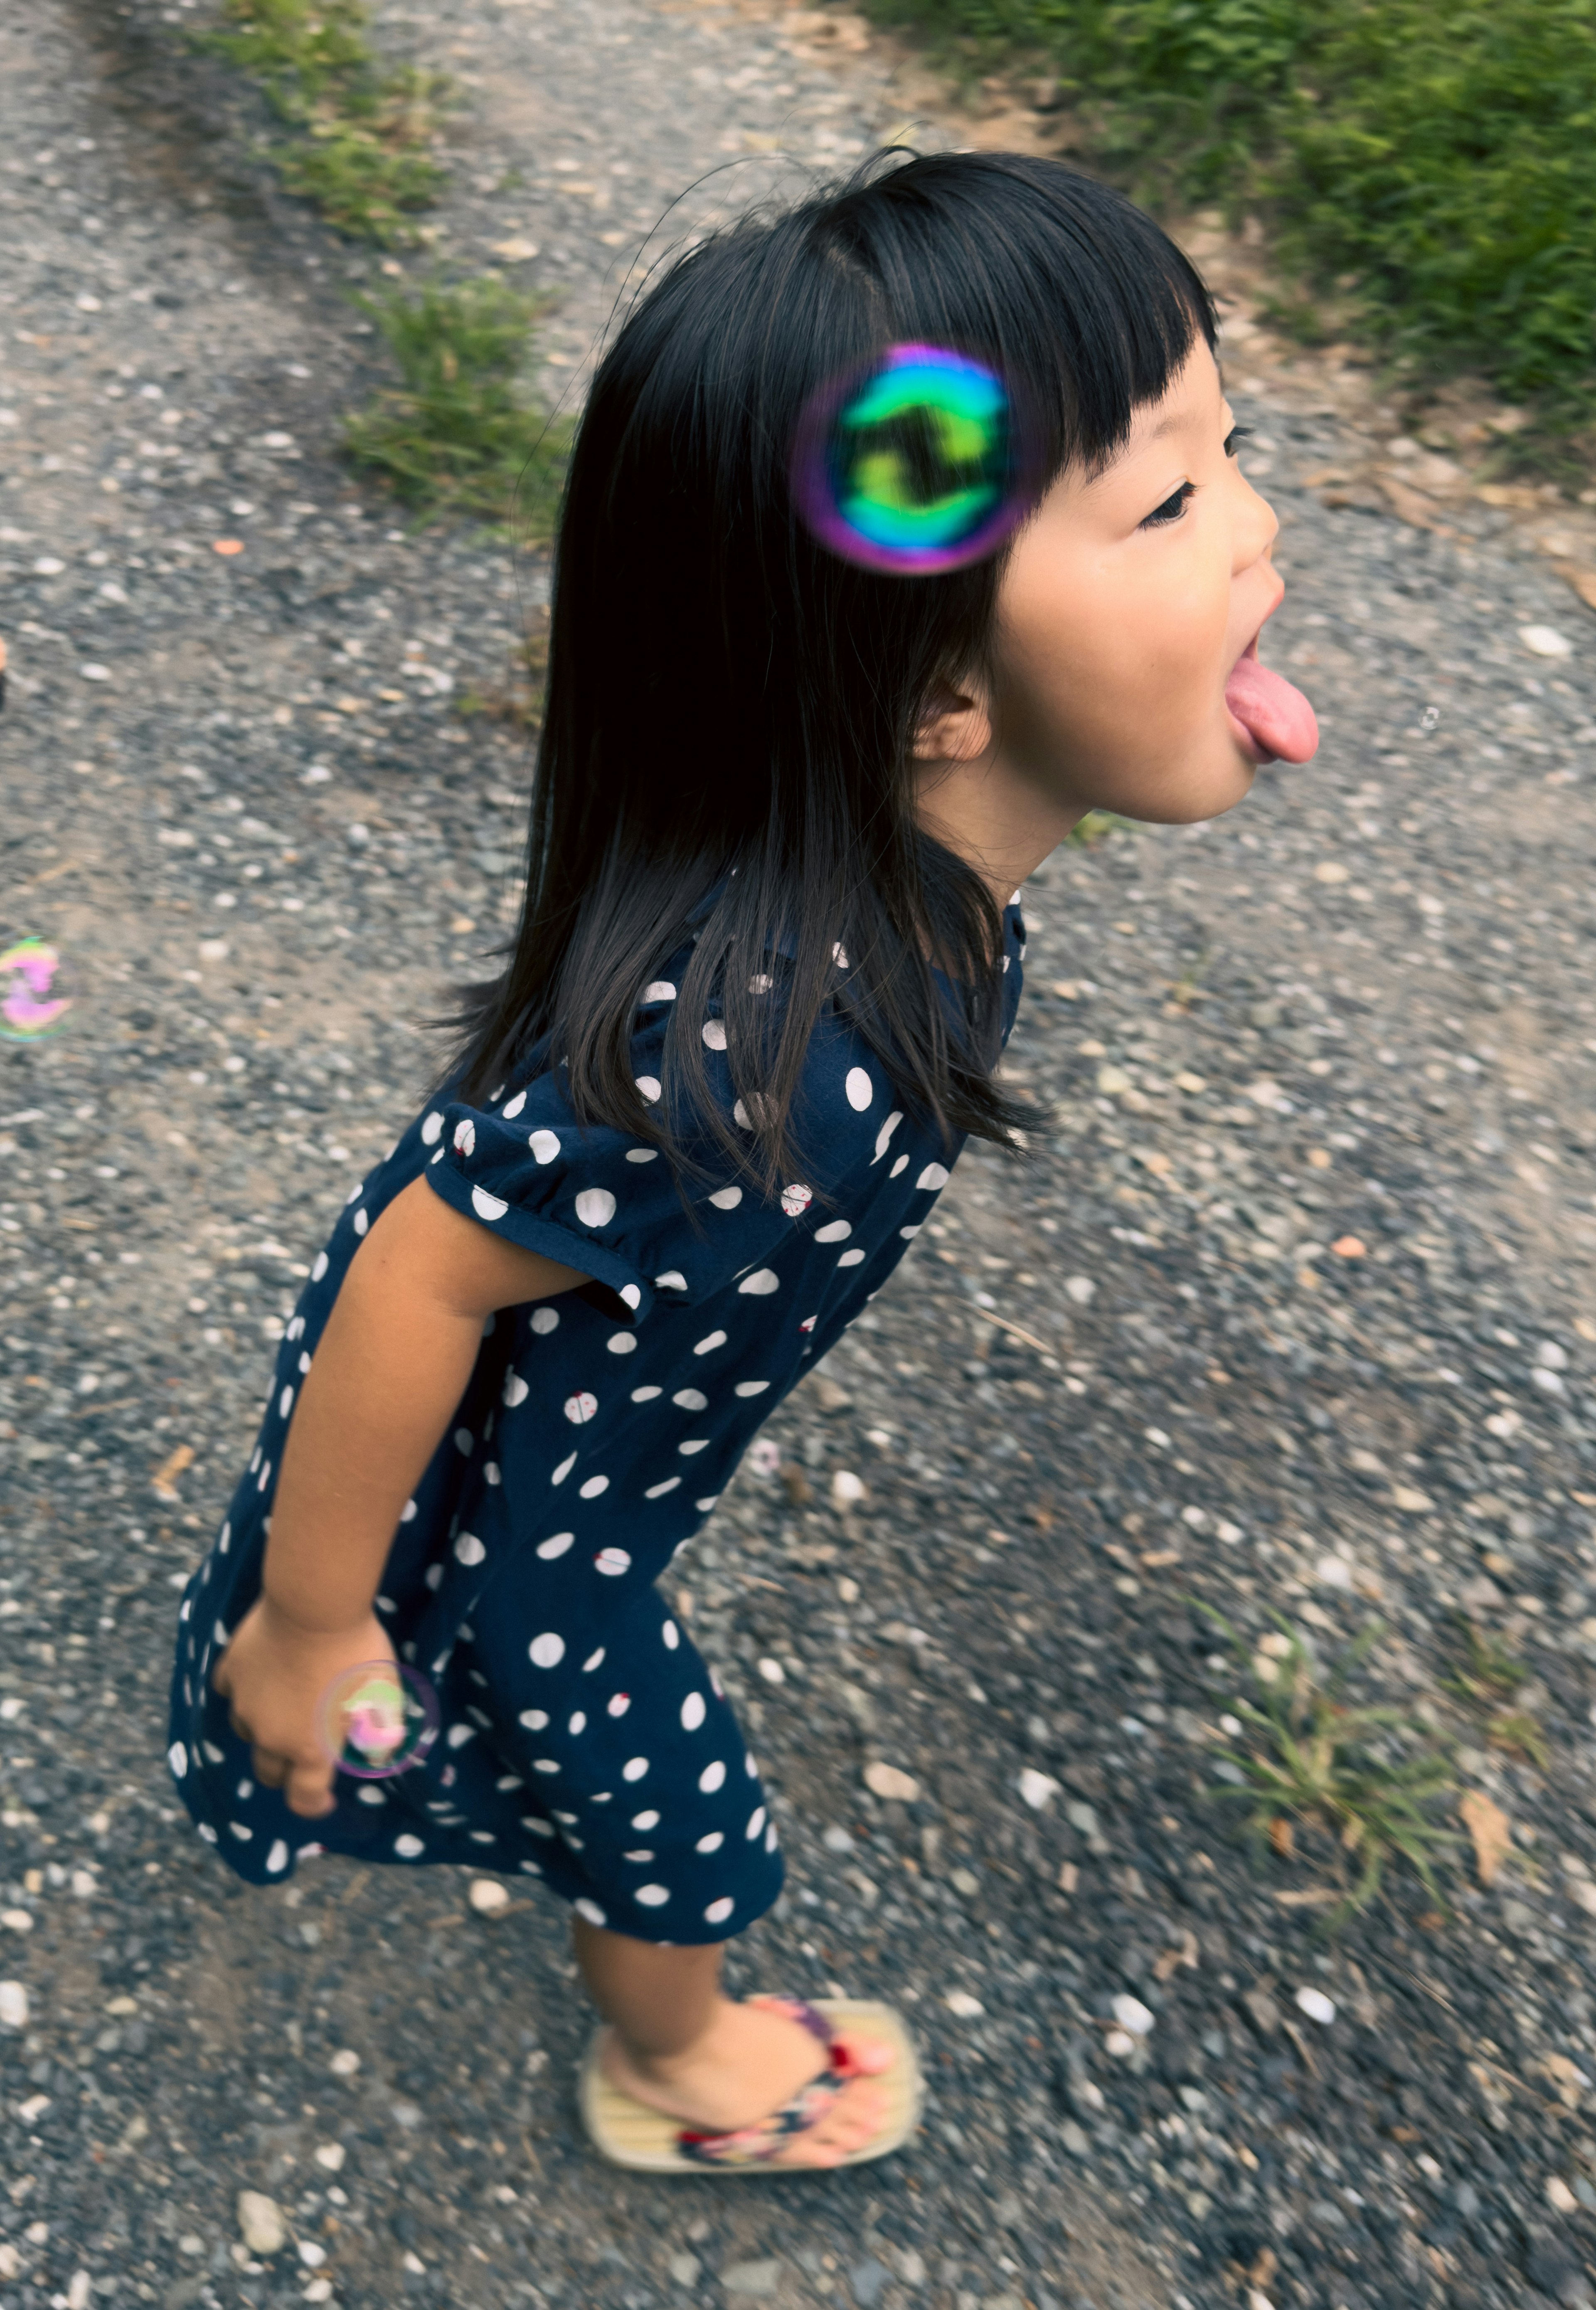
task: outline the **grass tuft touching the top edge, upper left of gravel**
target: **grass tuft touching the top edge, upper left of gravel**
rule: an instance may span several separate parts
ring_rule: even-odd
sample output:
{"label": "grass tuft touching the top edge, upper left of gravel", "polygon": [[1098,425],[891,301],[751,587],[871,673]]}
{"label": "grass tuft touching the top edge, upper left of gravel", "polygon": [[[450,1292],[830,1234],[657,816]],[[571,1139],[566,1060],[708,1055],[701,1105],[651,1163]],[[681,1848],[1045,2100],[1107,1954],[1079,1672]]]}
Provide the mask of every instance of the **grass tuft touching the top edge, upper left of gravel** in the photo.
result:
{"label": "grass tuft touching the top edge, upper left of gravel", "polygon": [[443,182],[432,141],[448,81],[383,72],[360,0],[226,0],[224,21],[229,30],[201,32],[199,44],[259,81],[277,118],[300,132],[273,152],[289,192],[356,240],[413,243],[409,219]]}

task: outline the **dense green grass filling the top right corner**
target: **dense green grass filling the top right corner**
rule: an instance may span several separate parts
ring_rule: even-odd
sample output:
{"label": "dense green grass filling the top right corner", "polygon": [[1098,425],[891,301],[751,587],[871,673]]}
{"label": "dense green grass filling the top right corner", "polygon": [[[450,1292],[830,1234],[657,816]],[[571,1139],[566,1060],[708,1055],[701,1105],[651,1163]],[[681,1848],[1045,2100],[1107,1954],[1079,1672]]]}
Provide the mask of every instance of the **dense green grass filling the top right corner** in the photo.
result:
{"label": "dense green grass filling the top right corner", "polygon": [[1305,333],[1596,423],[1596,0],[866,0],[1037,65],[1143,196],[1256,210]]}

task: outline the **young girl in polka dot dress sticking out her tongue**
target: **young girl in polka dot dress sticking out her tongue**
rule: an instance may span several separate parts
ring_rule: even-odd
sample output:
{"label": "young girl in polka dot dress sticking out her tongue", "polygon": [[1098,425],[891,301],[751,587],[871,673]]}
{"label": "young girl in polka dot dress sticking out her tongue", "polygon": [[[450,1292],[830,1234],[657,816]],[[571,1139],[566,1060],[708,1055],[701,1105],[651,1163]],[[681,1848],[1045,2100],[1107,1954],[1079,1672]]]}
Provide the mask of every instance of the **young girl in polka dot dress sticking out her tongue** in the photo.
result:
{"label": "young girl in polka dot dress sticking out her tongue", "polygon": [[[540,1878],[621,2158],[649,2111],[658,2164],[836,2164],[912,2123],[889,2014],[718,1989],[781,1855],[654,1582],[963,1139],[1007,1141],[1009,892],[1090,808],[1210,818],[1314,751],[1256,658],[1277,524],[1213,342],[1148,217],[1012,155],[873,164],[640,303],[570,464],[513,954],[316,1259],[182,1601],[201,1834],[256,1885],[307,1853]],[[975,559],[892,522],[852,550],[795,483],[894,349],[1007,395]],[[321,1700],[395,1654],[441,1737],[335,1774]]]}

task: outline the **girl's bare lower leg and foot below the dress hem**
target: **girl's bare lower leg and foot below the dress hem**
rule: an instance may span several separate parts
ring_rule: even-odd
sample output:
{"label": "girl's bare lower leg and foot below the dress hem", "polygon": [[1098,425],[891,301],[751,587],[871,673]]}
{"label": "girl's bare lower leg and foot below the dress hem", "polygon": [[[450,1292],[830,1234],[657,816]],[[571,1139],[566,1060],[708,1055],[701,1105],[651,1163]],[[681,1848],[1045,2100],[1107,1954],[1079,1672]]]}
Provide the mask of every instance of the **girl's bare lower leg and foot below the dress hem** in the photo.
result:
{"label": "girl's bare lower leg and foot below the dress hem", "polygon": [[[732,2132],[755,2125],[829,2067],[822,2047],[785,2014],[721,1994],[721,1947],[663,1950],[573,1917],[577,1964],[610,2021],[605,2077],[633,2100],[684,2125]],[[820,2125],[778,2164],[836,2164],[875,2132],[885,2093],[873,2077],[892,2061],[873,2040],[848,2040],[862,2072]]]}

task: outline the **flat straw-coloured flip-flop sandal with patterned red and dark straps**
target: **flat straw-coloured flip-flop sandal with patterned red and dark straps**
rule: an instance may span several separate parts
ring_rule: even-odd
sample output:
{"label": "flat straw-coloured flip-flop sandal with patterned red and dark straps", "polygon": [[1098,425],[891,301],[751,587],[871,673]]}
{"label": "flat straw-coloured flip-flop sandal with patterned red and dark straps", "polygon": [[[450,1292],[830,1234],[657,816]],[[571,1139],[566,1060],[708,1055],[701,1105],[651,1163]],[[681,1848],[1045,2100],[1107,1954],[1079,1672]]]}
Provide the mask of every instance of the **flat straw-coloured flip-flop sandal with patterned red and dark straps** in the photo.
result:
{"label": "flat straw-coloured flip-flop sandal with patterned red and dark straps", "polygon": [[[612,2086],[598,2065],[601,2037],[596,2033],[582,2063],[577,2102],[594,2148],[610,2164],[631,2167],[637,2174],[737,2174],[751,2167],[776,2174],[836,2174],[841,2167],[866,2164],[871,2158],[887,2158],[903,2148],[919,2125],[924,2077],[908,2028],[892,2005],[871,2005],[857,1998],[820,1998],[811,2005],[806,1998],[792,1996],[751,1998],[748,2003],[783,2007],[829,2049],[831,2067],[811,2077],[790,2102],[783,2102],[769,2118],[760,2118],[758,2125],[744,2125],[730,2134],[707,2134]],[[871,2072],[887,2095],[875,2134],[829,2167],[771,2167],[792,2137],[818,2125],[843,2086],[862,2074],[848,2067],[848,2054],[838,2044],[838,2037],[855,2030],[892,2049],[892,2067]]]}

